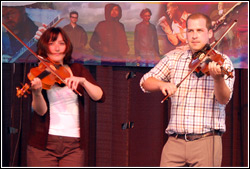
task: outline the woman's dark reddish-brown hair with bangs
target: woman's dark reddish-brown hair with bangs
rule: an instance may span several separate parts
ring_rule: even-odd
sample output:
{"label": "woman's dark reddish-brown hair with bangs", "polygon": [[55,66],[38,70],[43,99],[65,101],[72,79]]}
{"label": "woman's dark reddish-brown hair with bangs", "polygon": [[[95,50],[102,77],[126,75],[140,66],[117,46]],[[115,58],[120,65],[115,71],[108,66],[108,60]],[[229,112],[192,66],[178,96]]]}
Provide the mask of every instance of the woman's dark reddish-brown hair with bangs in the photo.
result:
{"label": "woman's dark reddish-brown hair with bangs", "polygon": [[70,42],[70,39],[68,37],[68,35],[64,32],[64,30],[60,27],[51,27],[49,29],[47,29],[42,36],[40,37],[38,43],[37,43],[37,54],[42,56],[43,58],[47,58],[48,57],[48,53],[50,53],[49,51],[49,41],[56,41],[58,38],[58,35],[61,34],[63,41],[66,44],[66,49],[65,49],[65,57],[63,59],[63,64],[69,64],[71,61],[71,55],[72,55],[72,51],[73,51],[73,46],[72,43]]}

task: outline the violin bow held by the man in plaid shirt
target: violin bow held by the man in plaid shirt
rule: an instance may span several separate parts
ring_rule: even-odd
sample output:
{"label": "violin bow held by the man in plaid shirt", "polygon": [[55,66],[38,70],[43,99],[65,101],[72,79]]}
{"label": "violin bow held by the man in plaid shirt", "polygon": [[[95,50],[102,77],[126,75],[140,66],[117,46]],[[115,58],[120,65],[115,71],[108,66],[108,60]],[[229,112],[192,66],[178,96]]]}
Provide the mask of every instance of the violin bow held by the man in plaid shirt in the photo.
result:
{"label": "violin bow held by the man in plaid shirt", "polygon": [[[234,22],[230,25],[230,27],[227,28],[227,30],[225,31],[225,33],[223,33],[223,35],[215,42],[213,42],[212,47],[210,48],[210,50],[204,54],[202,53],[199,57],[199,62],[196,64],[196,66],[194,66],[194,68],[176,85],[177,88],[179,88],[179,86],[181,85],[181,83],[186,80],[186,78],[193,73],[196,68],[201,64],[201,62],[204,60],[204,58],[206,58],[207,55],[209,55],[213,49],[215,48],[215,46],[226,36],[226,34],[235,26],[235,24],[237,23],[237,20],[234,20]],[[167,100],[167,98],[169,97],[169,95],[166,95],[164,97],[164,99],[162,99],[161,103],[163,103],[165,100]]]}

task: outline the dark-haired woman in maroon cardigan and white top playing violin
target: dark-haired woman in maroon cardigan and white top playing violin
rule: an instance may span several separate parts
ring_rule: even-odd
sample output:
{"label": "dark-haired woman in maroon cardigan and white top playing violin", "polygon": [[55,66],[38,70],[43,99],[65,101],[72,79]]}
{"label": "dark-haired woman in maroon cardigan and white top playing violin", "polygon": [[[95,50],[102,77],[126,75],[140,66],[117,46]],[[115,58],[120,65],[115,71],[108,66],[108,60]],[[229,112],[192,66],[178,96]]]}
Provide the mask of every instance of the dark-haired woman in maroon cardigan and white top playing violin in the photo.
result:
{"label": "dark-haired woman in maroon cardigan and white top playing violin", "polygon": [[70,64],[72,45],[61,28],[49,28],[38,41],[38,55],[66,68],[65,85],[42,89],[42,80],[31,81],[35,111],[27,148],[28,166],[84,166],[84,91],[93,101],[105,100],[102,88],[81,64]]}

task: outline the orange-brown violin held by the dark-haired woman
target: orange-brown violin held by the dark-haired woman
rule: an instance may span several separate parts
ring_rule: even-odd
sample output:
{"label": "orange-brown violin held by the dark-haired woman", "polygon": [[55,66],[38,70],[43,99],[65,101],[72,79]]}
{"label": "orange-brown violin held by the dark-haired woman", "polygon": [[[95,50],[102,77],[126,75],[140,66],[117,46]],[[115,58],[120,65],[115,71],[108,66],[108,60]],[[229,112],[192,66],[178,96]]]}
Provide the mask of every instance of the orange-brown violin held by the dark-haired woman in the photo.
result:
{"label": "orange-brown violin held by the dark-haired woman", "polygon": [[[54,73],[57,74],[54,75],[54,73],[51,73],[49,70],[47,70],[47,65],[51,69],[54,70]],[[27,74],[27,77],[30,81],[32,81],[34,78],[38,77],[41,79],[42,82],[42,88],[45,90],[51,89],[51,87],[55,84],[62,84],[64,83],[64,80],[67,77],[70,77],[70,73],[67,71],[65,67],[63,67],[60,64],[53,64],[53,63],[47,63],[47,65],[44,65],[44,63],[40,63],[37,67],[31,68],[30,72]],[[27,97],[25,93],[30,93],[28,90],[30,88],[30,82],[25,83],[22,88],[17,87],[17,93],[16,96],[20,98],[21,96]]]}

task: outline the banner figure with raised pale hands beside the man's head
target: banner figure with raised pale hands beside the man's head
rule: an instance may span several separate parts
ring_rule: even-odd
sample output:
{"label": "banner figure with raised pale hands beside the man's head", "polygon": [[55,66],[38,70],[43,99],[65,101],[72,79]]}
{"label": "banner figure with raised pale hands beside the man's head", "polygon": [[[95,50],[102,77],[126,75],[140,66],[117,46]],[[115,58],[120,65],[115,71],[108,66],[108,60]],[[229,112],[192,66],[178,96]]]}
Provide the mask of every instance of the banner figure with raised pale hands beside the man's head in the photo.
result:
{"label": "banner figure with raised pale hands beside the man's head", "polygon": [[[168,2],[166,14],[171,20],[171,27],[165,16],[160,18],[158,24],[167,35],[169,42],[174,46],[187,46],[186,20],[190,13],[183,10],[183,7],[175,2]],[[185,49],[185,48],[184,48]]]}

